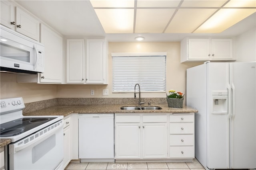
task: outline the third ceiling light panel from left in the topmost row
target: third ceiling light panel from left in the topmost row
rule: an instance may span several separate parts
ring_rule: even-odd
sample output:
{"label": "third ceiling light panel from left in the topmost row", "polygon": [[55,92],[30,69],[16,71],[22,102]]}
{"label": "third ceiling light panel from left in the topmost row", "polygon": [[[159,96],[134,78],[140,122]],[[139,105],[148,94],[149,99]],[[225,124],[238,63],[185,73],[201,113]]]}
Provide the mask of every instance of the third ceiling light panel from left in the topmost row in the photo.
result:
{"label": "third ceiling light panel from left in the topmost row", "polygon": [[221,7],[227,0],[184,0],[181,7]]}

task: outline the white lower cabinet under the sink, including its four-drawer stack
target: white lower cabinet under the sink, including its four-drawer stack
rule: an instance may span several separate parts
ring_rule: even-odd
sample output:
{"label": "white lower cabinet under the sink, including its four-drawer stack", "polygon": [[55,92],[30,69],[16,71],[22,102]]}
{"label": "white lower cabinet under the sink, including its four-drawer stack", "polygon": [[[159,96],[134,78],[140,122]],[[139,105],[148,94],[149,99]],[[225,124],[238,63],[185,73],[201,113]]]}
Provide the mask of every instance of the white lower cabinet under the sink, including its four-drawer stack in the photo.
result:
{"label": "white lower cabinet under the sink, including its four-drawer stack", "polygon": [[194,113],[116,113],[115,159],[192,160]]}

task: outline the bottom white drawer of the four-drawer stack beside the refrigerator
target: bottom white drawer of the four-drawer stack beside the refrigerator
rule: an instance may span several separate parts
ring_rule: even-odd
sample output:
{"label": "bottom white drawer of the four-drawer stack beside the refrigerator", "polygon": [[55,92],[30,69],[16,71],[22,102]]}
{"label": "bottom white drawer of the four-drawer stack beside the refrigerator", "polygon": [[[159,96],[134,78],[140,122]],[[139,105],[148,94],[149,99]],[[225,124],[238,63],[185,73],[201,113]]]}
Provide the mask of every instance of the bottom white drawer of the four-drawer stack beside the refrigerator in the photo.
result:
{"label": "bottom white drawer of the four-drawer stack beside the refrigerator", "polygon": [[194,147],[170,147],[170,158],[194,158]]}

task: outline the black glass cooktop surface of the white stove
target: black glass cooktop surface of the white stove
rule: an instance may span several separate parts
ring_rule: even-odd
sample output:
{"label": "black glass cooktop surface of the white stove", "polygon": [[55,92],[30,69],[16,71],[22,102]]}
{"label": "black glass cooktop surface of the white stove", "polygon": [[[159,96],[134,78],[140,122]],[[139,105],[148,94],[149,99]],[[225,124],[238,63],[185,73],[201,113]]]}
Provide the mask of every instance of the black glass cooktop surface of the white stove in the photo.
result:
{"label": "black glass cooktop surface of the white stove", "polygon": [[57,117],[22,117],[0,125],[0,137],[13,137],[38,127]]}

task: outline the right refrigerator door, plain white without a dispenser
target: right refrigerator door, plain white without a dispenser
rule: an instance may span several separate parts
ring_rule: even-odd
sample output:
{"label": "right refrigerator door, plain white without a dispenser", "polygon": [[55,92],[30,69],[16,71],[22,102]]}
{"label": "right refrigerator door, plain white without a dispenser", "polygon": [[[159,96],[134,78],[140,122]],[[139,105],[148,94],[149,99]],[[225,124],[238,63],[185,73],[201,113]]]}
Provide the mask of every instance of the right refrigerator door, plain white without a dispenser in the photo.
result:
{"label": "right refrigerator door, plain white without a dispenser", "polygon": [[230,168],[256,168],[256,62],[230,63]]}

